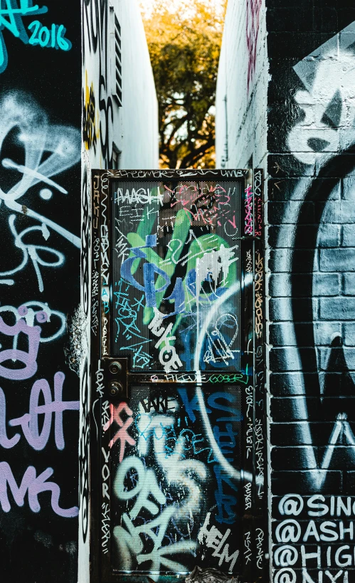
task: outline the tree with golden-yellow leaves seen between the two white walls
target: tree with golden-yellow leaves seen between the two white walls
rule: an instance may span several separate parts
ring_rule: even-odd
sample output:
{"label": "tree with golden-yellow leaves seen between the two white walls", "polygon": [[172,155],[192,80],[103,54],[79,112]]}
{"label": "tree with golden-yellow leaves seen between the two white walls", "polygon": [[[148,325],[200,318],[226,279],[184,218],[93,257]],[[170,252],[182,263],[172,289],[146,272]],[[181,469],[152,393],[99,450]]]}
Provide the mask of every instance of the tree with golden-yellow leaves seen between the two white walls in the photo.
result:
{"label": "tree with golden-yellow leaves seen between the two white walls", "polygon": [[156,0],[144,16],[159,103],[162,168],[214,167],[224,11],[213,0]]}

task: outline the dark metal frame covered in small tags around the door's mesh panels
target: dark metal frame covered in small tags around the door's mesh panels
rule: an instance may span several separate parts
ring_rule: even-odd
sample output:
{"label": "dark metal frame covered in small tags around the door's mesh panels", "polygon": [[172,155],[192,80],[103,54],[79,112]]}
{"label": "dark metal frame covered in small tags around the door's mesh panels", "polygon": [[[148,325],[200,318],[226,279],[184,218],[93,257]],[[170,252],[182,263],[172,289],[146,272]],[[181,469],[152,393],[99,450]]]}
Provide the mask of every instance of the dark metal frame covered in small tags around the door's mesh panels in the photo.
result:
{"label": "dark metal frame covered in small tags around the door's mesh panels", "polygon": [[[205,179],[245,181],[245,231],[242,249],[251,257],[253,286],[252,295],[244,295],[242,306],[243,330],[252,330],[243,338],[243,370],[253,367],[253,384],[245,384],[245,432],[243,483],[252,476],[250,492],[244,491],[243,542],[245,562],[242,580],[255,581],[267,577],[267,511],[265,485],[265,364],[264,364],[264,246],[263,246],[263,171],[250,170],[92,170],[91,180],[91,332],[90,332],[90,579],[100,583],[147,583],[147,575],[112,574],[110,552],[107,552],[110,534],[110,500],[103,487],[105,476],[110,475],[110,450],[102,437],[102,404],[107,396],[107,379],[115,380],[110,373],[110,364],[117,358],[110,357],[110,312],[102,303],[102,290],[110,288],[110,179],[147,181],[152,179]],[[243,262],[245,270],[246,262]],[[245,281],[245,273],[242,282]],[[242,283],[242,285],[243,285]],[[242,295],[243,299],[243,295]],[[250,301],[251,300],[251,301]],[[257,330],[257,332],[255,332]],[[150,375],[131,374],[124,361],[120,382],[127,390],[128,375],[134,382],[147,382]],[[165,375],[156,375],[163,382]],[[209,376],[209,374],[208,374]],[[244,377],[244,378],[243,378]],[[106,380],[105,380],[106,379]],[[242,374],[245,382],[245,375]],[[177,382],[177,381],[176,381]],[[196,382],[196,379],[194,379]],[[197,381],[198,384],[198,381]],[[246,389],[248,387],[249,390]],[[251,407],[250,407],[251,404]],[[251,435],[250,435],[251,433]],[[251,441],[250,441],[251,440]],[[105,447],[107,448],[105,450]],[[103,451],[103,453],[102,453]],[[251,455],[249,453],[251,452]],[[102,480],[103,483],[102,483]],[[108,501],[107,501],[108,500]],[[103,550],[102,550],[103,549]],[[152,580],[152,579],[151,579]],[[161,575],[159,583],[182,580],[175,575]]]}

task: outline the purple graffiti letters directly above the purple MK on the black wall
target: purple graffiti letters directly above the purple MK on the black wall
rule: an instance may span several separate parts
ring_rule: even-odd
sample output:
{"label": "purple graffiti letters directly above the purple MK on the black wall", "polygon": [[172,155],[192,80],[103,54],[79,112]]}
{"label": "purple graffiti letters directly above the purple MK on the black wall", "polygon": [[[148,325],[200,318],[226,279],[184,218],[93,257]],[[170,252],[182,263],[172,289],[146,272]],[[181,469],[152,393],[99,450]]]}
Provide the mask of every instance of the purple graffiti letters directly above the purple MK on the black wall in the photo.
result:
{"label": "purple graffiti letters directly above the purple MK on the black wall", "polygon": [[[29,413],[17,419],[11,419],[9,425],[16,427],[21,425],[23,435],[33,449],[41,451],[46,447],[51,434],[52,414],[54,413],[54,438],[58,449],[65,447],[63,434],[63,411],[78,411],[79,401],[63,401],[63,382],[65,374],[56,372],[54,375],[54,401],[52,401],[51,388],[46,379],[41,379],[33,384],[30,396]],[[39,405],[39,399],[43,395],[44,405]],[[0,388],[0,408],[5,403],[4,392]],[[4,408],[5,411],[5,408]],[[42,430],[39,431],[38,416],[44,415]],[[11,448],[18,443],[20,436],[16,434],[10,440],[6,436],[5,416],[0,413],[0,445]]]}

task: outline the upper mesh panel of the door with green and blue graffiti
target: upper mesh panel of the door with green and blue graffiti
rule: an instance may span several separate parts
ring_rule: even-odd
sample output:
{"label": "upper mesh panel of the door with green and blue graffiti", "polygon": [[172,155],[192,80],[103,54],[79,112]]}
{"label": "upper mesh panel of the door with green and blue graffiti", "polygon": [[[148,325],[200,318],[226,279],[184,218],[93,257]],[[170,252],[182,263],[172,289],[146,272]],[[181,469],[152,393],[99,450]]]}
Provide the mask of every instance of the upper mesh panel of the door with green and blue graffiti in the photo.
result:
{"label": "upper mesh panel of the door with green and blue graffiti", "polygon": [[112,350],[132,370],[240,369],[242,196],[243,180],[112,181]]}

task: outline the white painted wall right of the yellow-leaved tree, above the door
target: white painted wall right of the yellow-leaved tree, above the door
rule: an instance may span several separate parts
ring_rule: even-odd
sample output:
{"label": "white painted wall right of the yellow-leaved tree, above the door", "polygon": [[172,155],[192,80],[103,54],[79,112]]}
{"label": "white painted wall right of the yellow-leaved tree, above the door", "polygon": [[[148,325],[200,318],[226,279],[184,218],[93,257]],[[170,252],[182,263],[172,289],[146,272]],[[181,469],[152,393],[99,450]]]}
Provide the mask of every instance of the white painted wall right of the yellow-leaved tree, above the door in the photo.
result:
{"label": "white painted wall right of the yellow-leaved tree, above the door", "polygon": [[265,167],[268,79],[265,11],[265,0],[228,0],[216,95],[217,168],[246,168],[251,157],[255,168]]}

